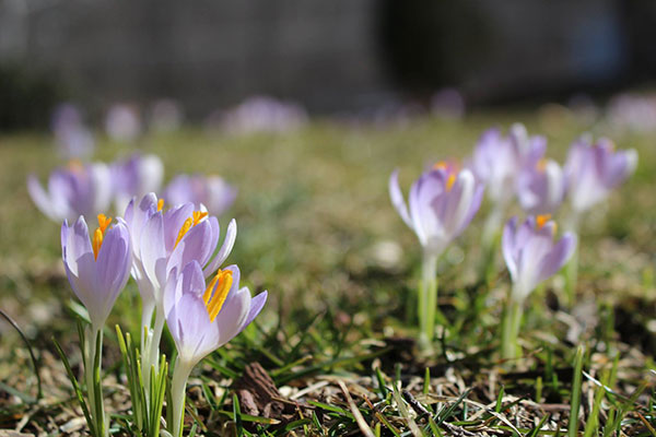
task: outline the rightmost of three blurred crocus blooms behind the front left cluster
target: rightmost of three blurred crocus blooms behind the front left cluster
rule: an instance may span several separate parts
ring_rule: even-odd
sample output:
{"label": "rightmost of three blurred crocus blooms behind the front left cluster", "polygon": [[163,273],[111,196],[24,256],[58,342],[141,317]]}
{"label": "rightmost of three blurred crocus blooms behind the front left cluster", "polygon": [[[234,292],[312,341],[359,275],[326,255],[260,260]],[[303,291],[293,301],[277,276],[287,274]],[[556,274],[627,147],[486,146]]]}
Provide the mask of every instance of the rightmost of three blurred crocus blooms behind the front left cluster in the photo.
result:
{"label": "rightmost of three blurred crocus blooms behind the front left cluster", "polygon": [[168,204],[191,202],[197,209],[203,204],[212,215],[223,214],[236,196],[237,189],[220,176],[178,175],[164,190],[164,199]]}

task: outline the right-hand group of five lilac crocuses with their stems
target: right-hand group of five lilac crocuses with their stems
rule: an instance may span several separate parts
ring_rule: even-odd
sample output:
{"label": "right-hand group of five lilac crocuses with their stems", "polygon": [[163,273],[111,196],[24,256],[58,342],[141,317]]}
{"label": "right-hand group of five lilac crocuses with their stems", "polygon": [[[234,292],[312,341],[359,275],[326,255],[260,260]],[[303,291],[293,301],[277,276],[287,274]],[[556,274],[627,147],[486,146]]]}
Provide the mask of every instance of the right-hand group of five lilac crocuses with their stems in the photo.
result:
{"label": "right-hand group of five lilac crocuses with their stems", "polygon": [[[575,141],[563,167],[547,158],[546,151],[547,140],[528,135],[522,125],[514,125],[506,135],[490,129],[476,144],[465,168],[441,162],[424,172],[410,189],[409,206],[399,188],[398,170],[391,174],[391,203],[423,249],[418,315],[420,344],[424,347],[430,347],[434,335],[437,259],[479,210],[483,189],[491,203],[481,236],[483,250],[488,251],[487,270],[494,267],[501,225],[508,218],[513,200],[528,214],[522,225],[517,217],[509,218],[501,238],[513,281],[508,296],[508,307],[513,309],[506,311],[503,328],[507,345],[504,355],[511,357],[516,351],[524,300],[573,257],[579,217],[605,200],[637,163],[634,150],[616,151],[607,139],[593,143],[583,137]],[[565,200],[571,210],[569,232],[554,243],[557,225],[551,215],[559,212]],[[575,277],[575,271],[569,276]]]}

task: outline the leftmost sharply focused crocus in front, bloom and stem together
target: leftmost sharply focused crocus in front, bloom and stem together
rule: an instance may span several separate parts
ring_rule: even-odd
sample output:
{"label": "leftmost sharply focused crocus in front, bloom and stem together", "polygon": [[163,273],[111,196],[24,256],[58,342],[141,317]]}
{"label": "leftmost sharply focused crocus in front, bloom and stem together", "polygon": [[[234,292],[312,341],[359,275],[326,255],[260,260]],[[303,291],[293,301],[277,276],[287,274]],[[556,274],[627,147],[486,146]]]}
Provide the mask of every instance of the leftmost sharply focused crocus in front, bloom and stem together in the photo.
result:
{"label": "leftmost sharply focused crocus in front, bloom and stem together", "polygon": [[[72,226],[61,226],[63,265],[73,292],[89,311],[91,330],[84,334],[83,357],[92,424],[97,436],[107,436],[107,417],[99,381],[103,327],[118,294],[128,281],[131,268],[130,235],[119,218],[98,215],[98,227],[90,239],[89,227],[80,216]],[[97,376],[97,377],[96,377]]]}

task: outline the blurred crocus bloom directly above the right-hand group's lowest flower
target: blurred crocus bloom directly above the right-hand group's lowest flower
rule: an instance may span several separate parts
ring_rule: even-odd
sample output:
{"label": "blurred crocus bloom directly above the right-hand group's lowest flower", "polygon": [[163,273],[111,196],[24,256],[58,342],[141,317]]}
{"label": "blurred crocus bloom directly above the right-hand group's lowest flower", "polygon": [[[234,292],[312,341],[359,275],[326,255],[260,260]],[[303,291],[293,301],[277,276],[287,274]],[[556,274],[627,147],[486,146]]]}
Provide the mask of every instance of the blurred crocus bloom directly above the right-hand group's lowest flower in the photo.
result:
{"label": "blurred crocus bloom directly above the right-hand group's lowest flower", "polygon": [[517,198],[528,214],[553,214],[565,198],[565,176],[553,160],[525,166],[517,177]]}

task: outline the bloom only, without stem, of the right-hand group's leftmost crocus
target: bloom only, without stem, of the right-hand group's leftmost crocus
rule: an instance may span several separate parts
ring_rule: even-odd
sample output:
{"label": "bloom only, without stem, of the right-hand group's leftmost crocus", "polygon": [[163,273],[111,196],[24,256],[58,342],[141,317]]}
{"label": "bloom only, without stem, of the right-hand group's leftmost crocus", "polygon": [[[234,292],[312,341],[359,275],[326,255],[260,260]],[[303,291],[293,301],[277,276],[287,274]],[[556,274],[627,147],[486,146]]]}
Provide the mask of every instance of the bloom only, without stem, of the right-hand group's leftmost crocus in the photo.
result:
{"label": "bloom only, without stem, of the right-hand group's leftmost crocus", "polygon": [[438,163],[410,188],[409,209],[399,187],[398,170],[389,178],[389,194],[424,250],[437,256],[471,222],[481,204],[483,186],[470,170],[457,172]]}

